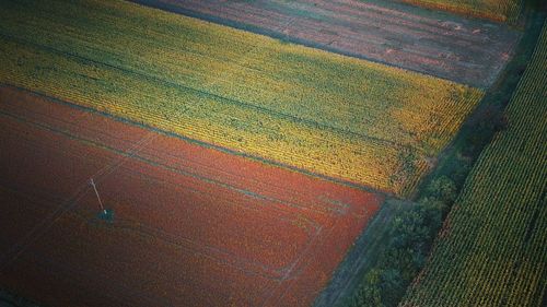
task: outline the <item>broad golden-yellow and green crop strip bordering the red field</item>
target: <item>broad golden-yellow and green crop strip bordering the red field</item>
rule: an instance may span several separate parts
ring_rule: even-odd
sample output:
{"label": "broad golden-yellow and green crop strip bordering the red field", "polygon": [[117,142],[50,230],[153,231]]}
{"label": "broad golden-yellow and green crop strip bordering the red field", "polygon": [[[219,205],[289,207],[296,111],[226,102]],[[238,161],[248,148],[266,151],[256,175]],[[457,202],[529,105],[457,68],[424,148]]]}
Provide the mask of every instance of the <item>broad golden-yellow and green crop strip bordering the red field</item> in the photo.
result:
{"label": "broad golden-yellow and green crop strip bordering the red field", "polygon": [[2,83],[399,196],[484,94],[124,1],[0,19]]}

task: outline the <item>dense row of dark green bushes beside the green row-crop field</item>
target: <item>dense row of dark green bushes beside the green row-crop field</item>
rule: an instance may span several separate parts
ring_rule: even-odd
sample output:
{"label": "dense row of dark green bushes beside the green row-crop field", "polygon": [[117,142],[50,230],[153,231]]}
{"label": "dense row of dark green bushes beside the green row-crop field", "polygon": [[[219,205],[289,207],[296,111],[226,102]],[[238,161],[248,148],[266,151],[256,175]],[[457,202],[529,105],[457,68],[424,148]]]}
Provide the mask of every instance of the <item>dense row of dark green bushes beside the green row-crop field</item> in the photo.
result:
{"label": "dense row of dark green bushes beside the green row-crop field", "polygon": [[360,283],[350,306],[397,306],[406,287],[423,268],[456,184],[446,176],[433,179],[426,196],[391,222],[392,235],[379,262]]}

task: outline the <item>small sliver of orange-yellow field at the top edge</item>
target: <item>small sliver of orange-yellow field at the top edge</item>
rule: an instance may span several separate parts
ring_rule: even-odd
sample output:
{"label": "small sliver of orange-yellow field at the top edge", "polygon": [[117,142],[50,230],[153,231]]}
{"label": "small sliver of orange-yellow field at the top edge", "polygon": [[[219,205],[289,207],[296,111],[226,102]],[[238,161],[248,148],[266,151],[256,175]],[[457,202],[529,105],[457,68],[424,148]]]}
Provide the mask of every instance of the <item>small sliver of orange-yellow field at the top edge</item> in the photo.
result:
{"label": "small sliver of orange-yellow field at the top edge", "polygon": [[464,15],[513,23],[519,19],[523,0],[400,0],[431,9],[446,10]]}

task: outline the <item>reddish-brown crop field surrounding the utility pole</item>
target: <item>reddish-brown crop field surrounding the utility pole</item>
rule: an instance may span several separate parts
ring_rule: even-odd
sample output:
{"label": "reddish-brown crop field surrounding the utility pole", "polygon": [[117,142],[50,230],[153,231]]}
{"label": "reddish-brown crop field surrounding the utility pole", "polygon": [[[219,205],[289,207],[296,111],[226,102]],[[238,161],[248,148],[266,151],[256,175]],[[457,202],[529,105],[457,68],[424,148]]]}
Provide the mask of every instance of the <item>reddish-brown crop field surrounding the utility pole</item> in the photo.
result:
{"label": "reddish-brown crop field surrounding the utility pole", "polygon": [[306,306],[383,201],[13,87],[0,131],[0,281],[50,306]]}

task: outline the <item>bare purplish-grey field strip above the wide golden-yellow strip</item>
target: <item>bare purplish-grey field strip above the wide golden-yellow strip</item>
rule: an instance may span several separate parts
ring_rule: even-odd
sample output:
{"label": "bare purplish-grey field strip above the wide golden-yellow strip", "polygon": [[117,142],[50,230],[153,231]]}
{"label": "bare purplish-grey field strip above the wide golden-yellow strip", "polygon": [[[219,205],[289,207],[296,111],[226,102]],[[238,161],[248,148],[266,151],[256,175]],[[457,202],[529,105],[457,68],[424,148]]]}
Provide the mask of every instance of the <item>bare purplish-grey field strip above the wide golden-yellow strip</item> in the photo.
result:
{"label": "bare purplish-grey field strip above the wide golden-yellow strip", "polygon": [[519,34],[388,1],[133,0],[293,43],[488,87]]}

